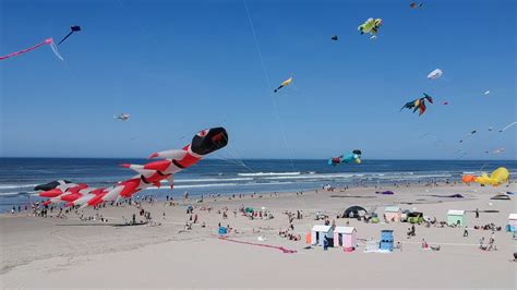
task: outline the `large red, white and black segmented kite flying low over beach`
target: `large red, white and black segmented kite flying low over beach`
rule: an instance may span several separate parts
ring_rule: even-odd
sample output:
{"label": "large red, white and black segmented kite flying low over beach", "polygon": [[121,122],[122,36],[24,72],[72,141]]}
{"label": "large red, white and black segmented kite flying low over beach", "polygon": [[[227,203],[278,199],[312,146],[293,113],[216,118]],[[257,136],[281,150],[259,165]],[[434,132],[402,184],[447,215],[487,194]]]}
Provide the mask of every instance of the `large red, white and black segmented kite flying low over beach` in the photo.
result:
{"label": "large red, white and black segmented kite flying low over beach", "polygon": [[224,148],[228,144],[228,133],[224,128],[213,128],[200,131],[192,138],[192,143],[182,149],[171,149],[154,153],[149,159],[161,157],[163,160],[148,162],[146,165],[129,165],[122,167],[130,168],[137,172],[132,179],[119,182],[109,188],[94,189],[87,184],[75,184],[70,181],[59,180],[36,186],[35,191],[40,191],[40,197],[49,198],[43,205],[52,203],[65,203],[65,206],[96,206],[104,202],[130,198],[139,191],[151,186],[159,188],[163,180],[167,180],[173,188],[172,174],[199,162],[206,155]]}

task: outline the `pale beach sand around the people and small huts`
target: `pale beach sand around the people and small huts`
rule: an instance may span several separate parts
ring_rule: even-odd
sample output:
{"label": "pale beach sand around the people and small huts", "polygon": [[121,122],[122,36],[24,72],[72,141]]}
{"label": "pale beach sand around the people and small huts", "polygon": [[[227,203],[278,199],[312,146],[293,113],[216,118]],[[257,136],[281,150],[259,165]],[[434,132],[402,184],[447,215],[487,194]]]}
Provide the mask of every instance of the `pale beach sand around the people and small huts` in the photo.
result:
{"label": "pale beach sand around the people and small huts", "polygon": [[[228,196],[209,197],[195,203],[194,214],[199,222],[190,231],[184,230],[189,215],[188,201],[166,206],[143,203],[160,226],[116,227],[136,214],[134,206],[106,207],[100,210],[85,209],[85,215],[101,214],[108,222],[81,221],[75,213],[67,219],[32,217],[27,213],[0,217],[1,273],[4,288],[516,288],[517,263],[510,262],[517,252],[512,234],[496,231],[497,251],[481,251],[479,240],[488,241],[492,231],[474,230],[476,225],[493,222],[505,227],[510,213],[517,213],[516,197],[512,201],[491,201],[500,191],[509,188],[480,188],[477,185],[438,186],[384,186],[395,195],[378,195],[374,188],[353,188],[303,195],[282,193],[245,196],[229,200]],[[459,193],[465,198],[434,197]],[[194,198],[195,200],[195,198]],[[409,203],[409,204],[408,204]],[[233,209],[266,207],[275,218],[251,220]],[[365,223],[350,219],[357,228],[359,247],[352,253],[342,249],[322,247],[305,250],[305,233],[314,225],[314,213],[327,214],[330,221],[345,226],[348,219],[337,215],[352,205],[375,212],[382,218],[384,206],[399,205],[405,209],[423,212],[425,216],[446,220],[448,209],[500,210],[481,213],[474,218],[467,213],[469,237],[464,228],[425,228],[417,226],[417,235],[407,239],[410,227],[406,222]],[[212,212],[201,210],[212,207]],[[217,212],[227,207],[228,218]],[[294,219],[294,232],[301,241],[280,238],[279,229],[287,229],[286,210],[302,210],[303,219]],[[165,212],[165,218],[163,213]],[[205,222],[206,228],[201,228]],[[277,249],[220,240],[218,222],[230,225],[239,233],[229,237],[237,241],[262,243],[296,250],[286,254]],[[402,243],[402,251],[392,253],[364,253],[365,240],[378,240],[383,229],[392,229],[395,242]],[[260,232],[256,232],[258,231]],[[266,238],[258,242],[257,237]],[[441,251],[421,249],[421,239],[430,245],[441,245]]]}

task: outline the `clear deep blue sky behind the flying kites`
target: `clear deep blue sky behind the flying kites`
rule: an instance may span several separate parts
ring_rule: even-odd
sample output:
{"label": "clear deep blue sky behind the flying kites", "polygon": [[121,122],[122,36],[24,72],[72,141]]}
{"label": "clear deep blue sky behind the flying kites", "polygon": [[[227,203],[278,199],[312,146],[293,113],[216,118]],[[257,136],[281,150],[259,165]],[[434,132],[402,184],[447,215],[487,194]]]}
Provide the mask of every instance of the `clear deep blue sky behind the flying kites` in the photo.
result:
{"label": "clear deep blue sky behind the flying kites", "polygon": [[[272,97],[243,0],[2,0],[0,55],[83,31],[64,62],[0,62],[1,156],[146,157],[224,125],[229,157],[515,159],[517,126],[495,131],[517,119],[516,1],[409,2],[248,0],[272,86],[294,77]],[[376,40],[357,31],[369,17]],[[399,112],[423,92],[424,116]]]}

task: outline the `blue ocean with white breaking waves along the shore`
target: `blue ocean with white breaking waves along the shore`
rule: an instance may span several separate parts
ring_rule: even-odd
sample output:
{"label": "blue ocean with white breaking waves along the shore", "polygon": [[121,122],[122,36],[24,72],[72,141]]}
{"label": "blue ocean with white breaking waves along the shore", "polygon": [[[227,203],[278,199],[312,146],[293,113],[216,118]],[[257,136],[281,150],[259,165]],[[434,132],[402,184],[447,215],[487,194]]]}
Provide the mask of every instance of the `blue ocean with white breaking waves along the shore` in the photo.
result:
{"label": "blue ocean with white breaking waves along the shore", "polygon": [[[146,159],[0,158],[0,210],[36,201],[33,188],[58,179],[91,186],[108,186],[135,174],[119,165]],[[142,194],[158,198],[208,194],[293,192],[325,184],[390,184],[459,180],[464,173],[490,172],[506,167],[516,177],[516,160],[363,160],[360,165],[328,166],[326,160],[220,160],[205,159],[175,176],[167,184]]]}

